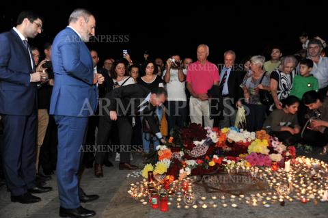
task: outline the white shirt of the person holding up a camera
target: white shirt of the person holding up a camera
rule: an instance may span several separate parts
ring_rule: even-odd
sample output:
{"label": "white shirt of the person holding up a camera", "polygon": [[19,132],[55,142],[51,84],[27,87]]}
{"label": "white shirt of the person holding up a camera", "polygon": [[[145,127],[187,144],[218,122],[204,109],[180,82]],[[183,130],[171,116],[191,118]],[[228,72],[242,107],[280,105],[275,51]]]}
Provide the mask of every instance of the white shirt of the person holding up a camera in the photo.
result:
{"label": "white shirt of the person holding up a camera", "polygon": [[[180,82],[178,77],[178,69],[170,69],[170,77],[169,82],[166,83],[166,89],[167,89],[167,100],[168,101],[187,101],[186,96],[186,85],[185,82]],[[187,69],[182,70],[184,75],[187,75]],[[164,76],[166,74],[166,70],[163,72],[162,78],[164,79]]]}

